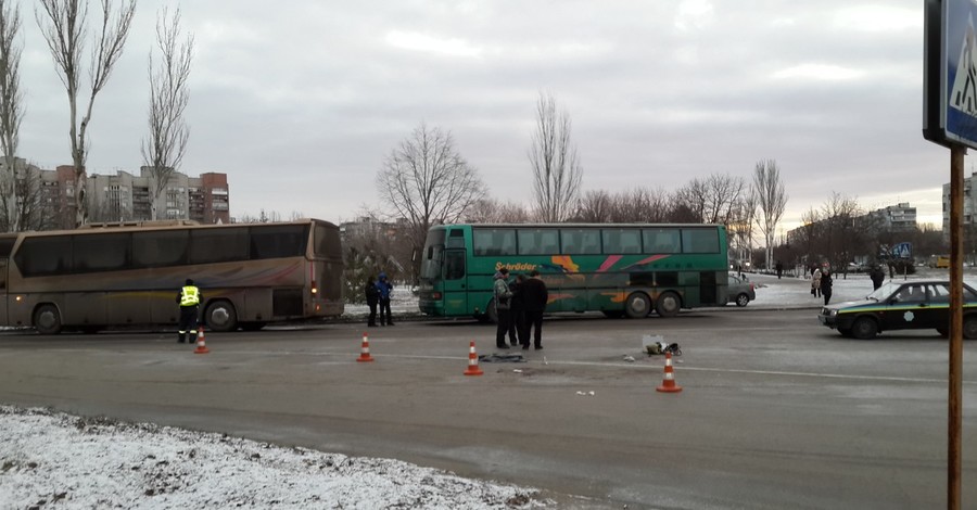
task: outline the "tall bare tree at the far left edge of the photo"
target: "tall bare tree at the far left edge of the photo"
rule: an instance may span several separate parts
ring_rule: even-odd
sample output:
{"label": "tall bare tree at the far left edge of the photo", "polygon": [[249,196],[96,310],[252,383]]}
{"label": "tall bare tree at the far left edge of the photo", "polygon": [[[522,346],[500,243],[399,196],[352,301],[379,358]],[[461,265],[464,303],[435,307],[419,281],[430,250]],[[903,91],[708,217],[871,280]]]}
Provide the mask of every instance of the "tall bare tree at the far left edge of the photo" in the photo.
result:
{"label": "tall bare tree at the far left edge of the photo", "polygon": [[3,175],[0,195],[4,200],[7,231],[21,230],[17,206],[25,197],[17,193],[17,146],[24,119],[24,92],[21,90],[21,53],[18,42],[21,10],[13,0],[0,0],[0,150],[3,151]]}

